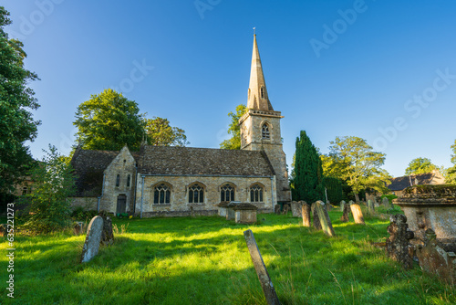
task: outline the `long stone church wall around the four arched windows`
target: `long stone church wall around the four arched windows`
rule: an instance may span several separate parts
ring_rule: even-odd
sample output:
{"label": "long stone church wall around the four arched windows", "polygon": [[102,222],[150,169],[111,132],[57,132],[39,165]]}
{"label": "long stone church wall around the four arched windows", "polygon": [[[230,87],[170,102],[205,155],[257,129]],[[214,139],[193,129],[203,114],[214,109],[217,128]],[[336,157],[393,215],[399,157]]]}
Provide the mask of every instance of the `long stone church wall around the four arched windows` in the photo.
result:
{"label": "long stone church wall around the four arched windows", "polygon": [[[189,216],[217,214],[217,204],[222,201],[223,185],[229,184],[234,189],[234,201],[251,203],[250,188],[254,184],[263,187],[263,202],[253,203],[260,209],[260,213],[271,213],[276,204],[275,178],[270,177],[207,177],[207,176],[160,176],[148,175],[144,177],[142,190],[141,176],[138,174],[138,188],[136,195],[135,215],[140,215],[142,199],[142,216]],[[203,189],[202,203],[194,203],[189,199],[192,185],[198,184]],[[273,185],[271,185],[273,184]],[[161,185],[161,187],[159,187]],[[274,188],[271,192],[271,187]],[[169,203],[160,203],[156,191],[170,190]],[[274,193],[274,195],[273,195]],[[159,203],[155,203],[155,201]],[[166,201],[166,200],[165,200]],[[194,201],[194,200],[192,200]],[[231,200],[233,201],[233,200]]]}

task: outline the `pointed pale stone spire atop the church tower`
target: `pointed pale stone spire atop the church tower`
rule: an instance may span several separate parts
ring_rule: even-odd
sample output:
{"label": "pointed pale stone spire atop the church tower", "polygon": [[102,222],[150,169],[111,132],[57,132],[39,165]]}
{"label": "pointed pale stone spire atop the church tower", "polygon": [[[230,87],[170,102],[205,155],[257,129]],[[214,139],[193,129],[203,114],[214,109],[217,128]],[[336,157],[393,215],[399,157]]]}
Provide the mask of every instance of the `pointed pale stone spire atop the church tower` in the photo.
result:
{"label": "pointed pale stone spire atop the church tower", "polygon": [[254,110],[272,110],[264,81],[263,68],[261,66],[260,52],[254,35],[254,52],[252,54],[252,68],[250,70],[249,97],[247,108]]}

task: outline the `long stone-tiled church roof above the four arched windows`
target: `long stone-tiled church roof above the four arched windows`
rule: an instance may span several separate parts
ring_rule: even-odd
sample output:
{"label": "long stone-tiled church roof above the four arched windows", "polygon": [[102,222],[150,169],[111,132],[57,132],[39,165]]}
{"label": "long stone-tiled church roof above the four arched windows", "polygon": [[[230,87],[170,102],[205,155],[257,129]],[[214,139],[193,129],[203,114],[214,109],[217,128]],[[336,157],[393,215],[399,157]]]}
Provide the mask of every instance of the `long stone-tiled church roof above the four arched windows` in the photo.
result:
{"label": "long stone-tiled church roof above the four arched windows", "polygon": [[140,174],[273,176],[264,152],[210,148],[141,147]]}

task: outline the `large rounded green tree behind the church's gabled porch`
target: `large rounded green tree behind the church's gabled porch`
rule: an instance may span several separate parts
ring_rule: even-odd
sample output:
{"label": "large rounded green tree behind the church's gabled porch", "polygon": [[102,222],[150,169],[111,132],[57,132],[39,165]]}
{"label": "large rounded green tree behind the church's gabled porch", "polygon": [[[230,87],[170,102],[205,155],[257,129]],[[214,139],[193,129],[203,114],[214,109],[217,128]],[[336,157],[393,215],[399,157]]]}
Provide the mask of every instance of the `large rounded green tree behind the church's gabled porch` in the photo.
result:
{"label": "large rounded green tree behind the church's gabled porch", "polygon": [[138,150],[144,136],[143,116],[136,101],[105,89],[78,106],[73,124],[84,149],[119,151],[127,144]]}

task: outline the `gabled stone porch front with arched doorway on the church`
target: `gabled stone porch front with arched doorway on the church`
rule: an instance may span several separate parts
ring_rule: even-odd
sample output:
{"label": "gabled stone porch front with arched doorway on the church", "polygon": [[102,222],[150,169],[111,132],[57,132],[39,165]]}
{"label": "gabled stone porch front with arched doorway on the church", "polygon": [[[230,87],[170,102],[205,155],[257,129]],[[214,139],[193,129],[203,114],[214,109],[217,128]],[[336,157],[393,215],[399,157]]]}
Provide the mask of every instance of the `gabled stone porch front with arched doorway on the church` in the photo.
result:
{"label": "gabled stone porch front with arched doorway on the church", "polygon": [[[100,210],[106,210],[114,214],[132,213],[134,205],[136,167],[135,159],[127,147],[124,147],[119,152],[119,155],[106,168],[104,174],[103,195],[99,203]],[[119,186],[117,185],[118,175]],[[120,209],[118,209],[119,196],[126,197],[125,208],[120,206]]]}

